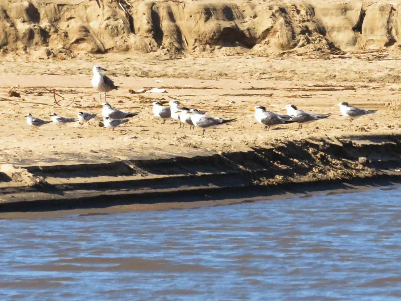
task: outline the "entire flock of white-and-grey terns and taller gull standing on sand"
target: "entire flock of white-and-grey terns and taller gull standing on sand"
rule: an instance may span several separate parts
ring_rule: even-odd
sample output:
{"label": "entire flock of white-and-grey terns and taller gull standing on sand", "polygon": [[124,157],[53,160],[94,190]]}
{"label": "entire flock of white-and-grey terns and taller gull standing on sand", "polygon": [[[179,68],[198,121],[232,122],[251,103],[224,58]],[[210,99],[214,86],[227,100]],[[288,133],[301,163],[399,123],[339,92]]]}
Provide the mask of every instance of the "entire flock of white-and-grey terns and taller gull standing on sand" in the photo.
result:
{"label": "entire flock of white-and-grey terns and taller gull standing on sand", "polygon": [[[106,69],[100,66],[93,66],[93,77],[92,77],[92,85],[97,91],[99,91],[99,96],[101,100],[101,93],[104,93],[104,102],[102,103],[102,116],[103,119],[99,122],[99,126],[105,126],[106,128],[115,128],[121,124],[128,122],[127,118],[134,117],[139,113],[127,113],[115,108],[112,108],[106,101],[106,93],[111,90],[117,90],[119,87],[114,85],[114,82],[107,76],[101,74],[101,71],[107,71]],[[154,116],[163,120],[163,124],[166,120],[177,120],[180,122],[180,127],[184,127],[185,124],[190,126],[190,129],[199,127],[203,129],[203,135],[205,134],[205,129],[215,128],[221,124],[228,124],[233,122],[237,118],[233,119],[222,119],[222,118],[214,118],[211,116],[207,116],[202,111],[198,111],[195,108],[185,108],[180,107],[178,101],[170,101],[170,102],[153,102],[152,103],[153,114]],[[340,112],[343,116],[350,118],[350,122],[352,120],[359,118],[361,116],[375,113],[375,110],[364,110],[359,109],[354,106],[350,106],[347,102],[341,102],[340,104],[336,104],[335,106],[340,107]],[[304,112],[302,110],[298,110],[298,108],[292,104],[287,105],[282,108],[282,110],[287,110],[287,115],[281,115],[274,112],[267,111],[264,106],[255,106],[253,108],[255,110],[255,118],[257,122],[263,124],[265,130],[269,130],[271,126],[281,125],[281,124],[289,124],[297,122],[299,123],[298,128],[302,128],[304,123],[314,122],[316,120],[321,120],[328,118],[330,114],[312,114],[309,112]],[[49,124],[51,122],[57,124],[59,128],[62,125],[65,125],[70,122],[80,123],[87,122],[93,118],[95,118],[97,114],[90,114],[87,112],[79,112],[77,118],[65,118],[59,116],[55,113],[51,114],[51,120],[45,121],[39,118],[34,118],[31,114],[26,114],[26,121],[30,126],[40,127],[45,124]]]}

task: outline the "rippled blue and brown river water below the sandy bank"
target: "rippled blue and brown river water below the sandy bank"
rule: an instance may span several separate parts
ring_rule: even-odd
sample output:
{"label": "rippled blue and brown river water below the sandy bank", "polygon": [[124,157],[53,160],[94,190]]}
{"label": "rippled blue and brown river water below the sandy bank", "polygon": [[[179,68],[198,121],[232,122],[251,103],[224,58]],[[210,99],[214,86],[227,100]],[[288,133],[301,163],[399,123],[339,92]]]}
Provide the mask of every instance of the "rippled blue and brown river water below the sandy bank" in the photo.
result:
{"label": "rippled blue and brown river water below the sandy bank", "polygon": [[400,197],[0,220],[0,300],[400,300]]}

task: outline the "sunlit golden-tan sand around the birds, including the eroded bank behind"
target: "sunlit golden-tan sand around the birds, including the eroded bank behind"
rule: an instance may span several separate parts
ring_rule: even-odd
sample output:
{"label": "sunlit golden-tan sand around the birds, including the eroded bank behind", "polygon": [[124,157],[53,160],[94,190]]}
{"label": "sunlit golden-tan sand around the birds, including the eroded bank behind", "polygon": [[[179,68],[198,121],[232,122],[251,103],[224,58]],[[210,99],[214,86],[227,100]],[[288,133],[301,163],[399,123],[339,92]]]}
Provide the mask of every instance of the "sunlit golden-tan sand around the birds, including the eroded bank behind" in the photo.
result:
{"label": "sunlit golden-tan sand around the birds, including the eroded bank behind", "polygon": [[[140,1],[132,7],[121,2],[123,8],[118,2],[100,1],[100,9],[96,1],[79,3],[0,3],[7,11],[0,18],[1,164],[40,167],[109,163],[133,156],[210,156],[304,138],[336,141],[352,134],[400,134],[397,26],[401,22],[395,14],[399,1],[313,5]],[[47,124],[34,130],[26,124],[27,113],[45,120],[52,112],[65,117],[76,117],[79,111],[100,113],[99,94],[90,82],[94,64],[105,67],[105,74],[122,87],[110,92],[107,101],[127,112],[140,112],[138,116],[113,131],[99,128],[97,120],[61,129]],[[10,87],[20,98],[8,96]],[[150,87],[165,88],[167,93],[129,93]],[[155,100],[179,100],[209,111],[210,116],[237,120],[202,136],[199,129],[178,129],[175,121],[161,124],[152,116]],[[339,102],[377,113],[350,123],[333,107]],[[301,130],[290,124],[265,131],[249,111],[258,104],[274,112],[295,104],[332,115]],[[320,153],[307,151],[316,158]],[[364,171],[358,177],[375,174],[355,160],[349,166]],[[251,170],[240,167],[241,159],[235,164]],[[31,181],[31,174],[25,175]],[[103,176],[104,181],[109,179]],[[124,173],[112,176],[126,179]],[[341,178],[337,173],[333,177]],[[93,180],[65,177],[55,183],[74,181]],[[12,185],[28,184],[17,182]]]}

